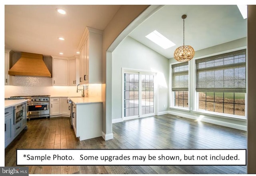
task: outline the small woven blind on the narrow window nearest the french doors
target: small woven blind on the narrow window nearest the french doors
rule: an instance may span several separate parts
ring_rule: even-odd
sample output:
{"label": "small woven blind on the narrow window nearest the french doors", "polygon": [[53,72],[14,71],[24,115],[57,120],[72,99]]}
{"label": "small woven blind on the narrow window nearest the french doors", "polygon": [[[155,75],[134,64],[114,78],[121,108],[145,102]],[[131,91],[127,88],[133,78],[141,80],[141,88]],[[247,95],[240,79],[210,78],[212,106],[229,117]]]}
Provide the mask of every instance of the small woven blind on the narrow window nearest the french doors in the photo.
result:
{"label": "small woven blind on the narrow window nearest the french doors", "polygon": [[188,62],[172,65],[172,91],[188,91]]}

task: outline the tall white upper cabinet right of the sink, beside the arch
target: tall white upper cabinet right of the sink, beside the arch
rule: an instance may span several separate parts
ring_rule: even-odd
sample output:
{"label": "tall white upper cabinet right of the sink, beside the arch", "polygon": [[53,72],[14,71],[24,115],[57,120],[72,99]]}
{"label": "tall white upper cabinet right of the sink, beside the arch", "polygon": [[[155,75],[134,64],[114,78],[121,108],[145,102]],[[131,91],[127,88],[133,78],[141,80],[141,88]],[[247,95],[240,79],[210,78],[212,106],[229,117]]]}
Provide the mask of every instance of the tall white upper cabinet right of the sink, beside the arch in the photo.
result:
{"label": "tall white upper cabinet right of the sink, beside the arch", "polygon": [[80,84],[102,83],[102,31],[86,27],[79,44]]}

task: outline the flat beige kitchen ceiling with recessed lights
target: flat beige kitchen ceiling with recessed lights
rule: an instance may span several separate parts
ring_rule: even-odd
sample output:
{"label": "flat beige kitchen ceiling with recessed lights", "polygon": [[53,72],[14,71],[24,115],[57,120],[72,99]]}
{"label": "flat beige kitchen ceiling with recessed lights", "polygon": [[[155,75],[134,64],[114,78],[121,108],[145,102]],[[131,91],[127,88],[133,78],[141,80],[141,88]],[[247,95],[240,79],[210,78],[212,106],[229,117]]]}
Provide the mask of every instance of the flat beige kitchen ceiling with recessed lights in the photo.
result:
{"label": "flat beige kitchen ceiling with recessed lights", "polygon": [[[65,15],[56,8],[66,10]],[[104,30],[120,5],[5,5],[5,48],[72,57],[86,26]],[[64,41],[58,37],[65,38]]]}

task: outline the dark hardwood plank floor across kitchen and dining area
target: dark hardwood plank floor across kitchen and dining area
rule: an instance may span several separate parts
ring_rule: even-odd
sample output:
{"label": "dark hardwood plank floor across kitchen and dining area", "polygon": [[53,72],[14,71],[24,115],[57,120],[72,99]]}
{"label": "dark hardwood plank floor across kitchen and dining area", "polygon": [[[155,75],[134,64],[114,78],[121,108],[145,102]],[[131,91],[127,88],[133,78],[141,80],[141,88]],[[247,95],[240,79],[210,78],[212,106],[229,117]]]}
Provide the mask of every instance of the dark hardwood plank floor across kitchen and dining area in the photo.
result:
{"label": "dark hardwood plank floor across kitchen and dining area", "polygon": [[[16,166],[21,148],[245,149],[246,132],[172,115],[113,124],[114,139],[79,141],[68,117],[31,119],[5,149],[5,166]],[[29,174],[246,174],[246,166],[29,166]]]}

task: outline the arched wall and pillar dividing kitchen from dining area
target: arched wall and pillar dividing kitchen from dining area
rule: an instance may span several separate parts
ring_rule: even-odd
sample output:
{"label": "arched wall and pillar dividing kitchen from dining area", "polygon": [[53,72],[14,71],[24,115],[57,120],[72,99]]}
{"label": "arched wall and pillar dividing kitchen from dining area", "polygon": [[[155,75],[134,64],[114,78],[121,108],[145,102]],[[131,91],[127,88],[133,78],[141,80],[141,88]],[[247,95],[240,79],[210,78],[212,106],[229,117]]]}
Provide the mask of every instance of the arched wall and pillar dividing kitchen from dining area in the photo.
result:
{"label": "arched wall and pillar dividing kitchen from dining area", "polygon": [[[142,21],[138,21],[138,16],[146,9],[148,5],[122,5],[115,16],[108,23],[103,31],[102,36],[102,137],[105,140],[113,138],[112,133],[112,94],[111,94],[111,68],[108,67],[112,62],[112,49],[109,49],[113,43],[119,43],[120,34],[128,31],[129,24],[132,24],[134,19],[139,25]],[[130,30],[133,30],[135,26]],[[115,48],[115,46],[112,46]],[[109,53],[110,52],[110,53]],[[110,87],[109,87],[110,86]],[[104,136],[105,135],[105,136]],[[110,136],[110,137],[106,137]]]}

